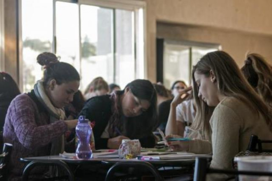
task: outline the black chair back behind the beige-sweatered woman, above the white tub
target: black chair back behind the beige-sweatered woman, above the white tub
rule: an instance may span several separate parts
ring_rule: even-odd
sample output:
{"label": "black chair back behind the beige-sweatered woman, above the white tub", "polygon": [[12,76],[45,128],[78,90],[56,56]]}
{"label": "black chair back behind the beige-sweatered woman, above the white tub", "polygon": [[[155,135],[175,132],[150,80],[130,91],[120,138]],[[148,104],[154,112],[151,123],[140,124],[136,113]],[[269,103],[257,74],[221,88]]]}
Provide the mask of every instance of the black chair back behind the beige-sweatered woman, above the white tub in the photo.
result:
{"label": "black chair back behind the beige-sweatered woman, above the white tub", "polygon": [[[272,152],[271,149],[262,149],[262,143],[272,143],[272,140],[260,140],[258,136],[252,134],[249,140],[248,151],[252,152]],[[258,148],[257,148],[258,146]]]}

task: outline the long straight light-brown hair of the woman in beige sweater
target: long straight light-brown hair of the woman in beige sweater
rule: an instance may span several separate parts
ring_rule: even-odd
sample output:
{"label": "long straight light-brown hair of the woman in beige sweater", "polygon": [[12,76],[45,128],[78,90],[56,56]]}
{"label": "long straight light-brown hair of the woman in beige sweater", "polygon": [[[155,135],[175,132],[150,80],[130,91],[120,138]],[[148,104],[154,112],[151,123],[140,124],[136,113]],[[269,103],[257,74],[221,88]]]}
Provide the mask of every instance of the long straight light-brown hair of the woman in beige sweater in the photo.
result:
{"label": "long straight light-brown hair of the woman in beige sweater", "polygon": [[211,129],[209,127],[209,119],[213,108],[206,107],[206,103],[199,99],[199,89],[194,77],[195,72],[208,77],[210,76],[210,70],[214,72],[218,90],[222,95],[235,97],[248,105],[252,112],[258,115],[261,113],[271,130],[271,115],[269,114],[268,107],[246,81],[233,58],[224,51],[207,53],[193,67],[193,93],[197,106],[195,125],[202,126],[201,128],[204,129],[204,132]]}

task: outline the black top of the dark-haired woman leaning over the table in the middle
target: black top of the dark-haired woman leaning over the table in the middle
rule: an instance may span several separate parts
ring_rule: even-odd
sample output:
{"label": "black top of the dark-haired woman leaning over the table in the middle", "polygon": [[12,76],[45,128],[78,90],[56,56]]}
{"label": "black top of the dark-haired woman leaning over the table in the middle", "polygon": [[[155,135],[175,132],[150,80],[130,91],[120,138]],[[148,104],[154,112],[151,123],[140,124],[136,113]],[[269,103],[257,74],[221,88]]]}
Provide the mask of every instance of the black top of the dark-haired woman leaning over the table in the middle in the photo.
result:
{"label": "black top of the dark-haired woman leaning over the table in the middle", "polygon": [[[112,116],[112,101],[110,95],[95,96],[89,99],[79,115],[85,115],[90,121],[95,121],[93,128],[95,138],[95,149],[108,149],[108,138],[101,138],[110,116]],[[122,119],[122,118],[121,118]],[[146,129],[145,122],[148,116],[143,113],[140,116],[127,118],[125,124],[125,135],[130,139],[139,139],[141,146],[145,148],[153,148],[155,146],[155,138],[152,128]]]}

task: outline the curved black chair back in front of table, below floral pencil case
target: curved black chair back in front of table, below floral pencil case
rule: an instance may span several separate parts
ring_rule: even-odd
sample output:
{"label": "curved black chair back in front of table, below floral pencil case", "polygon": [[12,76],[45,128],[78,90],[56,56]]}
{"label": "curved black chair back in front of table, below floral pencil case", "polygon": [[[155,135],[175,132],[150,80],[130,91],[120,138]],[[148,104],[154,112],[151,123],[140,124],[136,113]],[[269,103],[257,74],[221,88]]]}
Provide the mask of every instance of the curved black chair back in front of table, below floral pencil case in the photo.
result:
{"label": "curved black chair back in front of table, below floral pencil case", "polygon": [[120,167],[144,168],[144,169],[149,170],[154,175],[156,181],[163,181],[163,178],[162,178],[162,176],[160,176],[158,170],[152,164],[150,164],[149,162],[145,162],[145,161],[121,161],[121,162],[118,162],[118,163],[114,164],[112,167],[110,167],[110,169],[106,175],[105,181],[115,180],[114,179],[115,171]]}

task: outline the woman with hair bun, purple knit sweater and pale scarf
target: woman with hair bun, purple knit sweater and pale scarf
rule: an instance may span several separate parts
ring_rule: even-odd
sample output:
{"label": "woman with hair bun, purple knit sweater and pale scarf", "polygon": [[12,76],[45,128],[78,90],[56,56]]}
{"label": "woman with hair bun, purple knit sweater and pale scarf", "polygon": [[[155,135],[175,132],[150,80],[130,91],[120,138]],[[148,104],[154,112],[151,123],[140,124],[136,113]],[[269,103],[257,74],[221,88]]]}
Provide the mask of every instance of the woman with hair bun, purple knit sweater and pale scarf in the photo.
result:
{"label": "woman with hair bun, purple knit sweater and pale scarf", "polygon": [[43,79],[36,82],[31,92],[12,100],[4,125],[4,142],[13,144],[8,165],[13,180],[20,180],[23,171],[20,158],[62,153],[64,133],[78,122],[64,121],[63,110],[79,88],[76,69],[47,52],[40,54],[37,62],[45,69]]}

